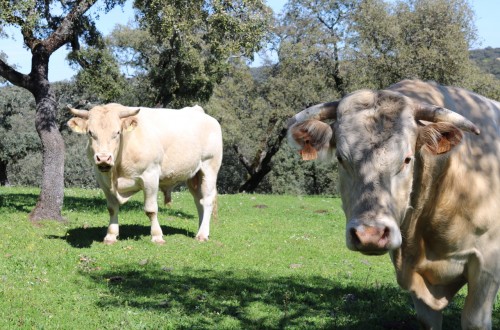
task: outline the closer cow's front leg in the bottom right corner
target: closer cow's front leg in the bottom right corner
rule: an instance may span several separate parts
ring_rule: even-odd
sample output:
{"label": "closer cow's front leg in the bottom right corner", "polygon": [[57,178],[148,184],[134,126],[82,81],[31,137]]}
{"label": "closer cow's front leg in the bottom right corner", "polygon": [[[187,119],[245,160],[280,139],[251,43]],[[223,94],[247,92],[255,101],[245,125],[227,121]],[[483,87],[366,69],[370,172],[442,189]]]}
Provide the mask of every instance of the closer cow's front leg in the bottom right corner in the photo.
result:
{"label": "closer cow's front leg in the bottom right corner", "polygon": [[468,293],[462,310],[462,329],[491,329],[491,313],[500,283],[498,271],[481,271],[477,258],[468,264]]}

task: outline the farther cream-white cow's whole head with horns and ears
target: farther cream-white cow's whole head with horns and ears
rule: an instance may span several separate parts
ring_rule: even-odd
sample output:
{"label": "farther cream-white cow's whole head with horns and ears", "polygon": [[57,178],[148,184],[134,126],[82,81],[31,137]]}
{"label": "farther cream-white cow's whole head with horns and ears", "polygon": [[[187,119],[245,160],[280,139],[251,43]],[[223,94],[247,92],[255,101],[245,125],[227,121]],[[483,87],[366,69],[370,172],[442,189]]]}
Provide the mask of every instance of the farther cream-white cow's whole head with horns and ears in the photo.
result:
{"label": "farther cream-white cow's whole head with horns and ears", "polygon": [[68,126],[76,133],[87,134],[89,158],[101,172],[109,172],[115,165],[120,150],[121,135],[137,126],[140,109],[130,109],[120,104],[96,106],[91,110],[77,110],[69,107],[75,116]]}

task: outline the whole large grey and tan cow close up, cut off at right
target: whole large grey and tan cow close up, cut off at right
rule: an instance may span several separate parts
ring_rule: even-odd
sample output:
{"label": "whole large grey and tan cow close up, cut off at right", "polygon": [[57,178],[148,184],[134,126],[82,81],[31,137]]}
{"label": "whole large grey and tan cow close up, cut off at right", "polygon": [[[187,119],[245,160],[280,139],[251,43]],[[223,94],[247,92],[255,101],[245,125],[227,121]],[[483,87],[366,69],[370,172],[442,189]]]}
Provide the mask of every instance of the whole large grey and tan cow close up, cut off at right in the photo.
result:
{"label": "whole large grey and tan cow close up, cut off at right", "polygon": [[441,328],[443,308],[467,284],[462,328],[490,329],[500,285],[500,103],[405,80],[310,107],[289,125],[304,159],[338,160],[347,247],[389,252],[423,327]]}

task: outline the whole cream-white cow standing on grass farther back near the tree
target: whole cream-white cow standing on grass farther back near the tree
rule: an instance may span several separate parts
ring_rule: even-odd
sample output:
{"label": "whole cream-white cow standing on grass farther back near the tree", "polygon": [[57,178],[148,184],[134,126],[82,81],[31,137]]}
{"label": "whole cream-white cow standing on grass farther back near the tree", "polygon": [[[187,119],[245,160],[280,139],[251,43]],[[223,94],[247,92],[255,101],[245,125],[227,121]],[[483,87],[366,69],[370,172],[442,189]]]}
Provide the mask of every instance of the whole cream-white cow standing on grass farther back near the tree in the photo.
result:
{"label": "whole cream-white cow standing on grass farther back near the tree", "polygon": [[186,182],[199,216],[196,239],[208,240],[216,206],[217,173],[222,162],[222,133],[217,120],[200,106],[180,110],[125,107],[111,103],[89,111],[71,109],[69,127],[88,136],[87,155],[94,164],[110,215],[104,243],[118,237],[118,209],[143,190],[151,236],[164,243],[158,223],[158,190],[170,192]]}

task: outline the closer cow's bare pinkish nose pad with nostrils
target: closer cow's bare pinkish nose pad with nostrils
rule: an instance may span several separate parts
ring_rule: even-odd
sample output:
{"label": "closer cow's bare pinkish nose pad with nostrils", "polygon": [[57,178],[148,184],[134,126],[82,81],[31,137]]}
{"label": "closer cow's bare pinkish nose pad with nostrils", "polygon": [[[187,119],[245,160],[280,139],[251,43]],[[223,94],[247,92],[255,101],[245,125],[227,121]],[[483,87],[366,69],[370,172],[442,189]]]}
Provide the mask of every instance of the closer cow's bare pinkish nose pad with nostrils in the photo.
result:
{"label": "closer cow's bare pinkish nose pad with nostrils", "polygon": [[351,247],[365,254],[383,254],[391,245],[389,226],[358,225],[349,228],[348,235]]}

